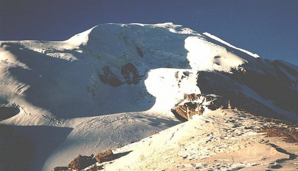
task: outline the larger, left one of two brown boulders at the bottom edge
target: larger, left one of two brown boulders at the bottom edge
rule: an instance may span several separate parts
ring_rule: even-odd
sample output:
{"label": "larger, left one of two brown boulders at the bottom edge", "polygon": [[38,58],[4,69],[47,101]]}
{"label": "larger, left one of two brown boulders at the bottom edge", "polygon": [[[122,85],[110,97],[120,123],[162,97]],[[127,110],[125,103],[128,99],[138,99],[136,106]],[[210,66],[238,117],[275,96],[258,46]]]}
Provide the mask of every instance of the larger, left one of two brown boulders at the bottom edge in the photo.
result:
{"label": "larger, left one of two brown boulders at the bottom edge", "polygon": [[73,169],[75,171],[82,170],[96,163],[96,160],[93,158],[94,155],[91,156],[81,156],[79,155],[75,158],[69,165],[68,168]]}

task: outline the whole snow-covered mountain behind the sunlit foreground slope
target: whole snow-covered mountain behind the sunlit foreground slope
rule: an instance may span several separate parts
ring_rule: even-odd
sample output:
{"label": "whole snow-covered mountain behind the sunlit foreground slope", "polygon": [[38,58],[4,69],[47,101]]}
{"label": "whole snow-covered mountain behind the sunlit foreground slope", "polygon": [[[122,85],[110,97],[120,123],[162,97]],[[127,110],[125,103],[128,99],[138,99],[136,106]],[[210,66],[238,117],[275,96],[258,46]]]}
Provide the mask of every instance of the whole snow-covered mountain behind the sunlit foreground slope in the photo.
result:
{"label": "whole snow-covered mountain behind the sunlit foreground slope", "polygon": [[[229,107],[298,121],[297,66],[172,23],[101,24],[62,42],[0,41],[0,75],[0,124],[14,125],[36,154],[48,149],[31,170],[145,138],[179,123],[174,114],[187,120]],[[47,136],[52,129],[61,135]],[[41,144],[40,136],[59,140]]]}

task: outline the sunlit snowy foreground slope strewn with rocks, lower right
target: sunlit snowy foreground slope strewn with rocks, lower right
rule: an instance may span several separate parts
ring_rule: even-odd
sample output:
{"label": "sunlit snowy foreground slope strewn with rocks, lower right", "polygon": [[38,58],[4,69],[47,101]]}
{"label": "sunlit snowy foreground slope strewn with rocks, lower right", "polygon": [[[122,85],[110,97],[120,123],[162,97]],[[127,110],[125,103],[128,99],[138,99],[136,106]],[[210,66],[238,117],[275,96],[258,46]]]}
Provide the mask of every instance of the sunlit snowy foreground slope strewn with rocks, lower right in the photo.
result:
{"label": "sunlit snowy foreground slope strewn with rocks, lower right", "polygon": [[217,110],[115,149],[121,157],[82,171],[296,171],[297,126]]}

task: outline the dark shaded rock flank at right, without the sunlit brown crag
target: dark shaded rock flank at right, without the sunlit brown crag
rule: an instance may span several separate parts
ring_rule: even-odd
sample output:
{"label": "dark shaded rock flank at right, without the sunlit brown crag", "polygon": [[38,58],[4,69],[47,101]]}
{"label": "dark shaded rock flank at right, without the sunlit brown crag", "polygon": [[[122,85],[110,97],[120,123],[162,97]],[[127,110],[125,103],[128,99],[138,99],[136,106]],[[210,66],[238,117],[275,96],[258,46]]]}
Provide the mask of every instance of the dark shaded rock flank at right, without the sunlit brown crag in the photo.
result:
{"label": "dark shaded rock flank at right, without the sunlit brown crag", "polygon": [[[271,66],[277,64],[282,63],[279,61],[270,63]],[[282,73],[287,77],[282,77],[283,79],[277,77]],[[230,73],[198,72],[197,85],[202,93],[217,94],[229,100],[232,107],[281,119],[284,117],[281,114],[288,113],[290,116],[292,113],[295,117],[294,113],[296,115],[298,113],[297,81],[293,79],[297,78],[296,75],[296,71],[291,67],[283,70],[280,67],[273,67],[260,72],[243,65],[238,69],[232,69]],[[286,78],[289,78],[288,81],[285,81]],[[273,105],[276,107],[272,107]]]}

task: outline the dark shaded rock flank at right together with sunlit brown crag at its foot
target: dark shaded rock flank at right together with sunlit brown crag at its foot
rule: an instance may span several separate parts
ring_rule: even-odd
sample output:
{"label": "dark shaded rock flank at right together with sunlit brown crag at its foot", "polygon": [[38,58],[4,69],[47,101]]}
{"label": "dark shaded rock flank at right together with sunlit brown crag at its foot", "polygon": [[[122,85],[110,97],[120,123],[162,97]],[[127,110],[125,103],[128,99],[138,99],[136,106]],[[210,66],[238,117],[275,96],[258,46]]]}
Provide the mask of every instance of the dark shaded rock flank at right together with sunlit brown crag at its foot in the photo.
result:
{"label": "dark shaded rock flank at right together with sunlit brown crag at its foot", "polygon": [[175,115],[188,120],[226,109],[229,103],[230,108],[265,117],[298,118],[298,71],[285,62],[258,59],[254,65],[245,63],[230,72],[199,71],[197,86],[201,94],[188,94],[173,108]]}

